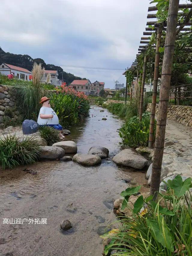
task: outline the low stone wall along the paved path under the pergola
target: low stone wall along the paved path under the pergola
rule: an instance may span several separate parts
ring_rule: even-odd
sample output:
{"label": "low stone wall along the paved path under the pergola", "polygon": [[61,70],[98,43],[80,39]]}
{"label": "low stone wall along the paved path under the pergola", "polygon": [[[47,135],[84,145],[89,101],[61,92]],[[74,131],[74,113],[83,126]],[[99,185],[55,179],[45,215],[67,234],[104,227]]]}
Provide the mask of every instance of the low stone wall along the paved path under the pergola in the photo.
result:
{"label": "low stone wall along the paved path under the pergola", "polygon": [[[158,107],[159,104],[156,104],[156,114],[158,113]],[[147,105],[147,111],[151,111],[151,103]],[[185,126],[192,126],[192,106],[169,105],[167,118]]]}

